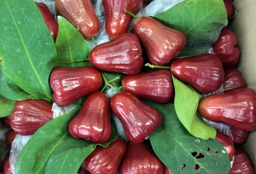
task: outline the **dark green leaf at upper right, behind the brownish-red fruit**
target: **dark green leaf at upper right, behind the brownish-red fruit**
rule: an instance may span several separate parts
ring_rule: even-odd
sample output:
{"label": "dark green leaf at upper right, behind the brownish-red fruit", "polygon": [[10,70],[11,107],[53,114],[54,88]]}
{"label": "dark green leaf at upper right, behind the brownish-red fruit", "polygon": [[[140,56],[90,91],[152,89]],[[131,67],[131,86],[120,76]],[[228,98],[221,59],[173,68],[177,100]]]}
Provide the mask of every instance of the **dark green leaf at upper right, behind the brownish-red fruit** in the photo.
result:
{"label": "dark green leaf at upper right, behind the brownish-red fruit", "polygon": [[186,35],[187,44],[179,57],[204,53],[228,22],[223,0],[185,0],[154,17]]}

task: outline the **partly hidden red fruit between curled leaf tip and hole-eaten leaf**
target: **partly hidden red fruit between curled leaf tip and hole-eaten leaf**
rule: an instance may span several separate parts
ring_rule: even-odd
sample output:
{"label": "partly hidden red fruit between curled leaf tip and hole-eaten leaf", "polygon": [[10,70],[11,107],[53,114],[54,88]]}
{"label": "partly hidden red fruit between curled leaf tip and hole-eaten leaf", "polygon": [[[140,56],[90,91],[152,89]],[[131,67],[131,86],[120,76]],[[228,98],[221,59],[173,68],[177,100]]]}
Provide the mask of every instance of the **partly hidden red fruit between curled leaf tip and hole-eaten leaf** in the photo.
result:
{"label": "partly hidden red fruit between curled leaf tip and hole-eaten leaf", "polygon": [[234,154],[235,154],[235,145],[233,140],[225,134],[222,134],[220,132],[217,132],[215,140],[217,140],[227,151],[227,154],[230,158],[230,161],[232,161]]}

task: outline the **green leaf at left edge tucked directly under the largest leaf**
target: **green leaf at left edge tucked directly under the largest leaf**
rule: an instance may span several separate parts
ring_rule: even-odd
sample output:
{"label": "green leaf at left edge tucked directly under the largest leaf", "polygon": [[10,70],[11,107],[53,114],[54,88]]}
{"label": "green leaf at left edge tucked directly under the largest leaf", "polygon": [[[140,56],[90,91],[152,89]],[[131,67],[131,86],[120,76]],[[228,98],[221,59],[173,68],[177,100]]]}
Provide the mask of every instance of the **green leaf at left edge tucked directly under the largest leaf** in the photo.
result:
{"label": "green leaf at left edge tucked directly under the largest leaf", "polygon": [[37,99],[36,97],[26,93],[20,87],[18,87],[18,85],[10,78],[3,67],[0,68],[0,84],[0,94],[5,98],[11,100]]}

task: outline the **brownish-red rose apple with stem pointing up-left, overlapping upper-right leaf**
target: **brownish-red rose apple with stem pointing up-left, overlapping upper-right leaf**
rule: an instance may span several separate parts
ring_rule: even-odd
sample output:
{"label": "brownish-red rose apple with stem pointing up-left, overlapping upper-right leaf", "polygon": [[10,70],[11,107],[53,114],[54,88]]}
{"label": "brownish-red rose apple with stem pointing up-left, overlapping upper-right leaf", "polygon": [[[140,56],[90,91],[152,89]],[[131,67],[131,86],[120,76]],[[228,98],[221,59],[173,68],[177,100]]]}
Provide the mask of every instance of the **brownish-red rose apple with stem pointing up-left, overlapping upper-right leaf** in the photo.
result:
{"label": "brownish-red rose apple with stem pointing up-left, overlapping upper-right leaf", "polygon": [[166,27],[152,17],[139,17],[135,20],[134,33],[153,65],[168,65],[186,45],[185,34]]}

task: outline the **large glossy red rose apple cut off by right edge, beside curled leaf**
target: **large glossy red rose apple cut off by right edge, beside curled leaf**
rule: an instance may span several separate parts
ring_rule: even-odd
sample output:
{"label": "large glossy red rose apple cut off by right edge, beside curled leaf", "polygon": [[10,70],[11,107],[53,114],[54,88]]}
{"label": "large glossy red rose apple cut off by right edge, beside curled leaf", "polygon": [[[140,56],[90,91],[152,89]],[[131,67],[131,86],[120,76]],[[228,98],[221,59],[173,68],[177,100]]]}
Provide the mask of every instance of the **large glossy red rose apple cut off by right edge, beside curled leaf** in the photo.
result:
{"label": "large glossy red rose apple cut off by right edge, beside curled leaf", "polygon": [[256,127],[256,92],[241,88],[203,98],[198,105],[200,114],[214,122],[250,131]]}

